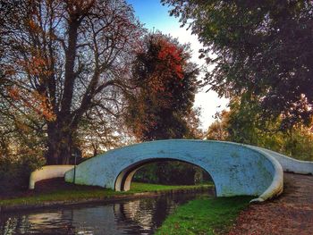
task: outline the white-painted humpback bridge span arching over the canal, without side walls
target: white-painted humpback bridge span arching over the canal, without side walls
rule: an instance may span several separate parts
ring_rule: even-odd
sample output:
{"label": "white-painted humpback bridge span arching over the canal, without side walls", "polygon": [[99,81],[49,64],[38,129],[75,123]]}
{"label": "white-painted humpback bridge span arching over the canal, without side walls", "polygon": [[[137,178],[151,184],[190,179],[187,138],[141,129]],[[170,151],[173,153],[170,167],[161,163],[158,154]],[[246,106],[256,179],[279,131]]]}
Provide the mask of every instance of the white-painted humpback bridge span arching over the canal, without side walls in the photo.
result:
{"label": "white-painted humpback bridge span arching over the canal, without side walls", "polygon": [[[121,147],[97,155],[76,167],[75,183],[129,189],[140,164],[175,159],[195,164],[215,182],[216,197],[256,196],[263,201],[283,191],[283,169],[274,157],[231,142],[171,139]],[[65,173],[73,181],[73,170]]]}

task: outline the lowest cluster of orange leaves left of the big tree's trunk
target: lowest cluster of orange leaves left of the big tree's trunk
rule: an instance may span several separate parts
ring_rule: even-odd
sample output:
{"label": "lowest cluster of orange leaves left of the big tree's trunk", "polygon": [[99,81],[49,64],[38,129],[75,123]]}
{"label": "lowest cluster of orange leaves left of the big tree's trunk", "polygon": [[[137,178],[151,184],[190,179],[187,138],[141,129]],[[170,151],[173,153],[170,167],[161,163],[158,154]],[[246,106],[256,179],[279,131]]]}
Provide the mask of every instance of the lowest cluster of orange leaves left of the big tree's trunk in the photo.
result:
{"label": "lowest cluster of orange leaves left of the big tree's trunk", "polygon": [[37,91],[26,91],[20,88],[7,88],[9,97],[24,107],[30,108],[32,111],[45,118],[48,122],[55,120],[55,113],[52,111],[48,98],[40,95]]}

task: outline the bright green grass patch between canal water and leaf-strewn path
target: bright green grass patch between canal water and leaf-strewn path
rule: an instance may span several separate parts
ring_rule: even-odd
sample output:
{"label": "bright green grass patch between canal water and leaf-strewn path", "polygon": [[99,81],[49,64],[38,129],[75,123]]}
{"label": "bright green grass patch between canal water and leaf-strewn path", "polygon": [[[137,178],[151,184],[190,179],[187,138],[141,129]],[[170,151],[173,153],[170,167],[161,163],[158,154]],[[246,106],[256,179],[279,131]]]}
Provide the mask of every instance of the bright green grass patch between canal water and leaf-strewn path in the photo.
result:
{"label": "bright green grass patch between canal water and leaf-strewn path", "polygon": [[179,206],[170,214],[157,235],[224,234],[252,197],[200,198]]}

